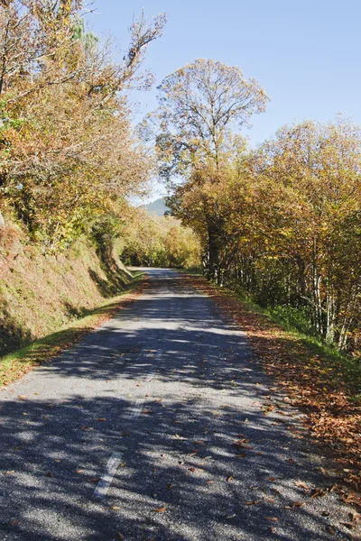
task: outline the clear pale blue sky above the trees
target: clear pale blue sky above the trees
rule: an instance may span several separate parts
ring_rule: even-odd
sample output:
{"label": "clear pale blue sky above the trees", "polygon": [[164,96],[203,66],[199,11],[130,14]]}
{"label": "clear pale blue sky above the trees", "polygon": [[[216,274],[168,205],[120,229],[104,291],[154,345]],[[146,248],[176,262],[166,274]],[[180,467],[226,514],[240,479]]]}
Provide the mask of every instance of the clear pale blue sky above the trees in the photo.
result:
{"label": "clear pale blue sky above the trees", "polygon": [[[196,58],[221,60],[256,78],[271,98],[245,130],[263,142],[282,124],[327,121],[338,112],[361,124],[361,0],[96,0],[94,32],[111,33],[123,50],[136,14],[165,12],[162,38],[144,66],[156,82]],[[156,89],[138,94],[140,113]]]}

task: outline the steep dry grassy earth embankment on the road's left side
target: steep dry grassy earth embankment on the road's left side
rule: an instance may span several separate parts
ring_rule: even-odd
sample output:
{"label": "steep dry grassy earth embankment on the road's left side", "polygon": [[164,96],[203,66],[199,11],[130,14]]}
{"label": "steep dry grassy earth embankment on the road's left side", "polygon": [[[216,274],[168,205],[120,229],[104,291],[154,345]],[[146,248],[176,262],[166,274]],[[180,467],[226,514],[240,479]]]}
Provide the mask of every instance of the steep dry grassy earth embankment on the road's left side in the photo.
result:
{"label": "steep dry grassy earth embankment on the road's left side", "polygon": [[0,231],[0,357],[59,330],[125,289],[131,274],[116,256],[80,239],[58,256]]}

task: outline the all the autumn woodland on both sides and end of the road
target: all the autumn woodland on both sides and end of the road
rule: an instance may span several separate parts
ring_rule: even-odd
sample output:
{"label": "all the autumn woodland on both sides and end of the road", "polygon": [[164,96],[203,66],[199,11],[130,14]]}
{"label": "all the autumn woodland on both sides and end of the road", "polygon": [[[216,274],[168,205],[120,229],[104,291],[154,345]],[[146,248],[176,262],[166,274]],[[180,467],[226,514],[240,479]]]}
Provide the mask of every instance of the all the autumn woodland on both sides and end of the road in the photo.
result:
{"label": "all the autumn woodland on both sides and end of the road", "polygon": [[[359,127],[305,121],[251,148],[245,127],[266,110],[264,88],[199,59],[164,78],[159,108],[134,129],[130,96],[153,84],[142,62],[166,16],[134,20],[115,61],[86,14],[81,0],[0,7],[2,260],[15,243],[56,258],[86,238],[125,263],[201,266],[358,354]],[[171,216],[130,203],[157,176]]]}

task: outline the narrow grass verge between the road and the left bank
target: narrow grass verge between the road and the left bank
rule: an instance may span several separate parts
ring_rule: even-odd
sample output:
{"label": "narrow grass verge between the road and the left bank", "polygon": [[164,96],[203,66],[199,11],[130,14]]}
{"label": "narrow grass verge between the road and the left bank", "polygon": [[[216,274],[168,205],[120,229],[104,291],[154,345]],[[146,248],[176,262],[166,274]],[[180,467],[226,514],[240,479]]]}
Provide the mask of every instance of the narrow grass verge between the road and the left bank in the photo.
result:
{"label": "narrow grass verge between the road and the left bank", "polygon": [[77,344],[83,336],[101,326],[122,308],[132,304],[142,294],[146,284],[142,272],[134,273],[134,280],[118,296],[107,299],[97,308],[84,310],[78,319],[59,331],[0,358],[0,387],[18,380],[33,367],[50,361],[65,349]]}

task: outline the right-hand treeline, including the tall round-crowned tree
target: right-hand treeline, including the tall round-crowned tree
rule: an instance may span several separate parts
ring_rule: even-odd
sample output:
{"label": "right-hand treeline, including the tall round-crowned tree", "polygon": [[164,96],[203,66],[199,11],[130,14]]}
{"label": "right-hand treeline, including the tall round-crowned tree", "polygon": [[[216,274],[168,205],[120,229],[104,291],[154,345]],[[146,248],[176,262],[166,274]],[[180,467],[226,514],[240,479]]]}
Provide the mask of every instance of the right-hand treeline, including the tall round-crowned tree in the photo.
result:
{"label": "right-hand treeline, including the tall round-crowned tree", "polygon": [[168,206],[200,235],[208,278],[297,310],[329,344],[359,352],[360,129],[304,122],[248,151],[237,130],[267,97],[213,60],[171,74],[160,95]]}

